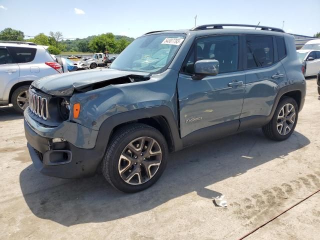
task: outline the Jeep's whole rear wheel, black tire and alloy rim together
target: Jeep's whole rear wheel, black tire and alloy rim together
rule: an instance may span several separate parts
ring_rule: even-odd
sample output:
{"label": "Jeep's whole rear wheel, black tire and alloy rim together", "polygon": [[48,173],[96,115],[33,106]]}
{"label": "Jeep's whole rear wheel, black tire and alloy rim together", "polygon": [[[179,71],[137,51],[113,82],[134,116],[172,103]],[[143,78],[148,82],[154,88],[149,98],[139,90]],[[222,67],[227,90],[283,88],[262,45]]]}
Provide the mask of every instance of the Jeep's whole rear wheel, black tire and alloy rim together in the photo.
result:
{"label": "Jeep's whole rear wheel, black tire and alloy rim together", "polygon": [[285,96],[278,103],[273,117],[264,126],[264,135],[272,140],[287,139],[294,131],[298,119],[298,105],[292,97]]}

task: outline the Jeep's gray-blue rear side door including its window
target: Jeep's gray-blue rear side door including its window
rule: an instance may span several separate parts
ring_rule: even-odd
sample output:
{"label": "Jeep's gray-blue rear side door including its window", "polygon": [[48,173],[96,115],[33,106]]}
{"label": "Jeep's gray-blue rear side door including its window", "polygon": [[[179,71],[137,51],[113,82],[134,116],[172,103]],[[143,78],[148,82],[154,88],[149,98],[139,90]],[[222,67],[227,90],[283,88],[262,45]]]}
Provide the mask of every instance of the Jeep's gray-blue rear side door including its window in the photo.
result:
{"label": "Jeep's gray-blue rear side door including its window", "polygon": [[[278,48],[276,48],[278,46]],[[245,35],[245,93],[240,116],[240,129],[250,125],[252,117],[271,113],[275,95],[286,75],[281,59],[286,56],[283,37],[272,35]],[[277,49],[277,50],[276,50]]]}

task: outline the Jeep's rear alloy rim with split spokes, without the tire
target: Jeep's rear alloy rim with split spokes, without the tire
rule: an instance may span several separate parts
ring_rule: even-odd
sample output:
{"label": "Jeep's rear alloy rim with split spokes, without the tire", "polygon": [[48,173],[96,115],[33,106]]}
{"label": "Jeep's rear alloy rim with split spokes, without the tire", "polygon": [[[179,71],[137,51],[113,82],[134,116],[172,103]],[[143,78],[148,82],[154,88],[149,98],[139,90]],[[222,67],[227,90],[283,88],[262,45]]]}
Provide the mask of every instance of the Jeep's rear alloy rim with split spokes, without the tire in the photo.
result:
{"label": "Jeep's rear alloy rim with split spokes, without the tire", "polygon": [[286,103],[277,116],[276,128],[280,135],[289,133],[294,125],[295,109],[291,103]]}

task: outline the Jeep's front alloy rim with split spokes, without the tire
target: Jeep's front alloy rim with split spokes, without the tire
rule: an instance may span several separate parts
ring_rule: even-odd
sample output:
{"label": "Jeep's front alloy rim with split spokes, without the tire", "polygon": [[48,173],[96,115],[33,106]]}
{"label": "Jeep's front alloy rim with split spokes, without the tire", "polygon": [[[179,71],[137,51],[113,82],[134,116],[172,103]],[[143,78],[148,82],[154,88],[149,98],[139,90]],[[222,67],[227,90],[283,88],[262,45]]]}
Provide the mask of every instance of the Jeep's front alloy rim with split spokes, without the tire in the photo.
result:
{"label": "Jeep's front alloy rim with split spokes, without the tire", "polygon": [[119,174],[128,184],[142,184],[157,172],[161,157],[160,145],[154,138],[135,138],[124,147],[119,157]]}

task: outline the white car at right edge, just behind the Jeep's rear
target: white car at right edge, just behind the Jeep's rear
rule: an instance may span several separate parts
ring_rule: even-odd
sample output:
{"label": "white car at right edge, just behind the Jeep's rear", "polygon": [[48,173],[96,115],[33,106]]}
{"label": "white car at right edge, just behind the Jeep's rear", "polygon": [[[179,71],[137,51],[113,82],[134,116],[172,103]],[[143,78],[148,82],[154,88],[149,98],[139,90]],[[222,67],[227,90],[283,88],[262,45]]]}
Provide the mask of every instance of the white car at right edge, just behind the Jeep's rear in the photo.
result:
{"label": "white car at right edge, just behind the Jeep's rear", "polygon": [[315,76],[320,70],[320,50],[296,50],[304,76]]}

